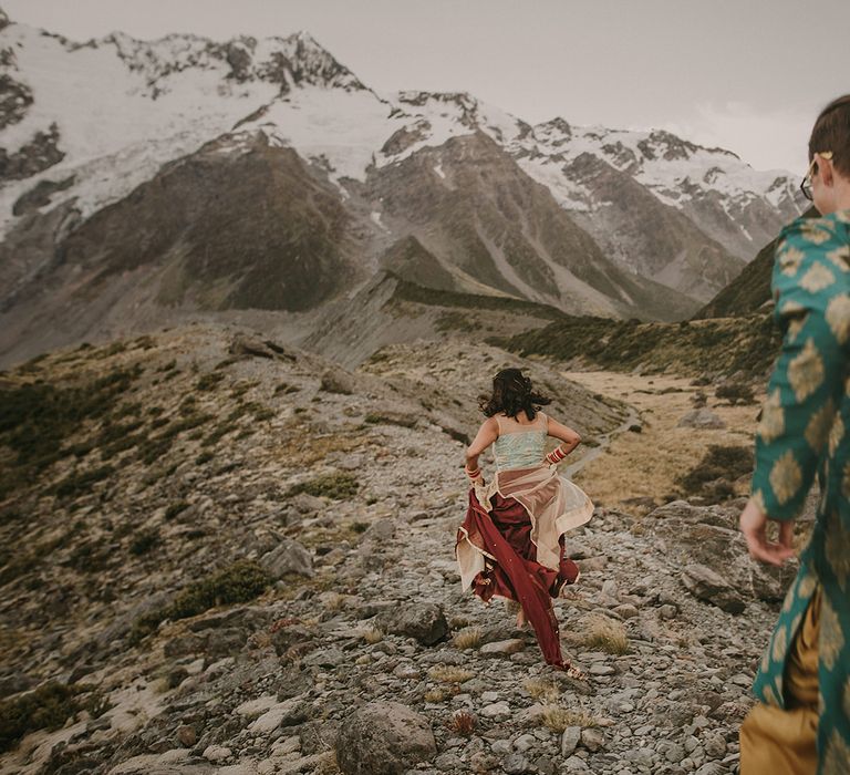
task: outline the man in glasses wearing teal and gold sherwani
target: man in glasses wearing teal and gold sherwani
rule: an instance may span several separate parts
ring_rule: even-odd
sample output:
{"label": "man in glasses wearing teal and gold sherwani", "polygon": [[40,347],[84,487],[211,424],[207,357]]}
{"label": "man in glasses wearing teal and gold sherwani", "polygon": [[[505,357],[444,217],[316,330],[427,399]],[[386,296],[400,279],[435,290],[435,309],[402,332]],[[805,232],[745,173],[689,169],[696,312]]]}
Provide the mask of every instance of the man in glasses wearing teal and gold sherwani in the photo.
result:
{"label": "man in glasses wearing teal and gold sherwani", "polygon": [[740,730],[742,775],[850,775],[850,95],[818,117],[809,159],[804,193],[822,217],[794,221],[777,244],[782,350],[740,517],[753,557],[794,555],[792,520],[816,473],[820,502],[756,676],[760,703]]}

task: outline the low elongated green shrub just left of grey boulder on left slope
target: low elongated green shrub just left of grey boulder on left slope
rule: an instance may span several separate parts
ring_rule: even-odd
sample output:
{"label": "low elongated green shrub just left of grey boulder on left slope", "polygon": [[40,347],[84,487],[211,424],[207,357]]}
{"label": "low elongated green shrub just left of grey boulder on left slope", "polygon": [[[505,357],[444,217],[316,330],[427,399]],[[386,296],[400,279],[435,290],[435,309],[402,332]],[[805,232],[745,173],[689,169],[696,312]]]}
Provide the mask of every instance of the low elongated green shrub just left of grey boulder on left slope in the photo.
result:
{"label": "low elongated green shrub just left of grey boulder on left slope", "polygon": [[271,578],[262,566],[252,560],[238,560],[206,579],[190,583],[168,606],[136,619],[129,634],[131,642],[137,643],[166,619],[188,619],[216,606],[253,600],[269,583]]}

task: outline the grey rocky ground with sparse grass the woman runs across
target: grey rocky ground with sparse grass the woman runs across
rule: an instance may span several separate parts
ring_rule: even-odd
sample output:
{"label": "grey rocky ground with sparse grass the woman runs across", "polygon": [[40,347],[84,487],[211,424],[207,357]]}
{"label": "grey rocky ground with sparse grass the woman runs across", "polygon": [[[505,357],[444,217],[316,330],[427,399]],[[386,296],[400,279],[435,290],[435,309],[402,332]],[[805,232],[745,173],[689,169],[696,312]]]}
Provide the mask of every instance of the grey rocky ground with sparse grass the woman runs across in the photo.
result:
{"label": "grey rocky ground with sparse grass the woman runs across", "polygon": [[[518,362],[395,345],[352,374],[196,327],[3,374],[7,406],[24,385],[106,397],[86,414],[85,390],[39,393],[44,416],[65,407],[55,458],[22,441],[39,417],[15,436],[2,415],[0,771],[737,772],[792,572],[746,557],[742,499],[608,503],[571,534],[582,577],[556,606],[583,682],[462,591],[464,435]],[[634,433],[615,399],[527,365],[588,461]]]}

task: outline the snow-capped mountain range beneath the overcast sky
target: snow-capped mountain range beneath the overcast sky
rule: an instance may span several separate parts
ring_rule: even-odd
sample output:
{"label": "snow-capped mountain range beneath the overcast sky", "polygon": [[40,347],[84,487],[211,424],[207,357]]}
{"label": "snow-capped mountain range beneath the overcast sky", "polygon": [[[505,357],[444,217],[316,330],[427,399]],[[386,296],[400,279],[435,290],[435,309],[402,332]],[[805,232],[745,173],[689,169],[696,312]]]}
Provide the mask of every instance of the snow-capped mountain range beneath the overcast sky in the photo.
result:
{"label": "snow-capped mountain range beneath the overcast sky", "polygon": [[[188,299],[315,309],[385,270],[681,318],[798,211],[787,175],[666,133],[375,93],[304,32],[81,44],[2,20],[0,79],[7,351]],[[411,239],[417,260],[400,261]],[[153,290],[137,296],[127,272]]]}

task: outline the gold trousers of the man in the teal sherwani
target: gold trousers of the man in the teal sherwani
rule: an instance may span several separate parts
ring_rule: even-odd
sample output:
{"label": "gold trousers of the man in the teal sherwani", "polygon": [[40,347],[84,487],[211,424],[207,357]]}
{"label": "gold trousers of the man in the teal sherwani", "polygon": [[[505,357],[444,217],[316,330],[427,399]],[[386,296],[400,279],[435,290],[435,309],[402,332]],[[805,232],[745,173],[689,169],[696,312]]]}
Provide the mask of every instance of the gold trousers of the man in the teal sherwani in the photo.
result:
{"label": "gold trousers of the man in the teal sherwani", "polygon": [[820,601],[818,586],[788,653],[786,710],[759,703],[740,726],[740,775],[815,775],[818,769]]}

